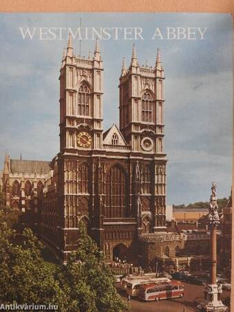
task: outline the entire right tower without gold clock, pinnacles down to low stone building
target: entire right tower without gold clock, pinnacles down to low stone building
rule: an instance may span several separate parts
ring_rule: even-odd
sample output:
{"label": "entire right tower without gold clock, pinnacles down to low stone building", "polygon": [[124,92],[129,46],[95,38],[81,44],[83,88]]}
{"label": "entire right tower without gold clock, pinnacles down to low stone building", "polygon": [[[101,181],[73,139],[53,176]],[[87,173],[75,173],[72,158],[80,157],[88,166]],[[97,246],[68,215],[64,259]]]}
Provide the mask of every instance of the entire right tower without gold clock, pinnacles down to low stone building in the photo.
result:
{"label": "entire right tower without gold clock, pinnacles down to low stone building", "polygon": [[167,159],[163,144],[164,69],[159,49],[155,67],[140,66],[133,45],[129,69],[123,59],[119,90],[120,131],[131,147],[132,157],[140,156],[141,187],[137,190],[133,182],[132,194],[135,203],[145,202],[151,215],[149,223],[140,220],[138,228],[160,231],[165,227]]}

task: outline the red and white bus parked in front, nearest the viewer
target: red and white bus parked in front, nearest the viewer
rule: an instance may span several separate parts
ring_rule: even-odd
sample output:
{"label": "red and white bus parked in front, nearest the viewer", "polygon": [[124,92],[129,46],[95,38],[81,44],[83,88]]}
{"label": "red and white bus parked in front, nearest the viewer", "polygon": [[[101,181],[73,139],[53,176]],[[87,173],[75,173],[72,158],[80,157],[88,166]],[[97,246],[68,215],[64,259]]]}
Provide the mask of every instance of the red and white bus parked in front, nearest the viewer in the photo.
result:
{"label": "red and white bus parked in front, nearest the viewer", "polygon": [[144,301],[162,300],[171,298],[182,298],[184,296],[184,285],[172,280],[161,284],[142,284],[138,291],[138,298]]}

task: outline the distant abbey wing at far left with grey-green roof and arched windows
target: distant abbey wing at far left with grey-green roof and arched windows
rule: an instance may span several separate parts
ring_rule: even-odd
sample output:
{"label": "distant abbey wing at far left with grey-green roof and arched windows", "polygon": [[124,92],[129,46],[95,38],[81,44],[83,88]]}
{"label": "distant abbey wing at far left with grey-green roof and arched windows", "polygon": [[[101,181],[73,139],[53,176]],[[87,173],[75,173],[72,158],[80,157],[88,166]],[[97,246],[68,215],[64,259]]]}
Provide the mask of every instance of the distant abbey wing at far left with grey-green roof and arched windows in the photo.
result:
{"label": "distant abbey wing at far left with grey-green roof and arched windows", "polygon": [[6,154],[2,183],[6,206],[22,213],[19,228],[28,226],[35,232],[39,225],[38,196],[42,194],[45,174],[50,162],[42,160],[11,159]]}

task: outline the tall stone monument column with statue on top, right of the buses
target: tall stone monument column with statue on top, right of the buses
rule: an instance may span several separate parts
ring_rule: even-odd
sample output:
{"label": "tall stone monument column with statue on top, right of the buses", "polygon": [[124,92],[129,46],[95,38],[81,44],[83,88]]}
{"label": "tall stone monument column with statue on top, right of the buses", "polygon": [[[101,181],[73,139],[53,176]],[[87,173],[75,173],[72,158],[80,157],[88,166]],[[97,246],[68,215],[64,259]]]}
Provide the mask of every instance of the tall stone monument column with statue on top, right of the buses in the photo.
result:
{"label": "tall stone monument column with statue on top, right of the buses", "polygon": [[211,184],[211,197],[209,207],[209,230],[211,233],[211,273],[210,282],[204,286],[204,301],[198,304],[200,312],[224,312],[227,309],[221,301],[222,285],[216,283],[217,275],[217,228],[220,225],[220,218],[216,197],[217,185]]}

